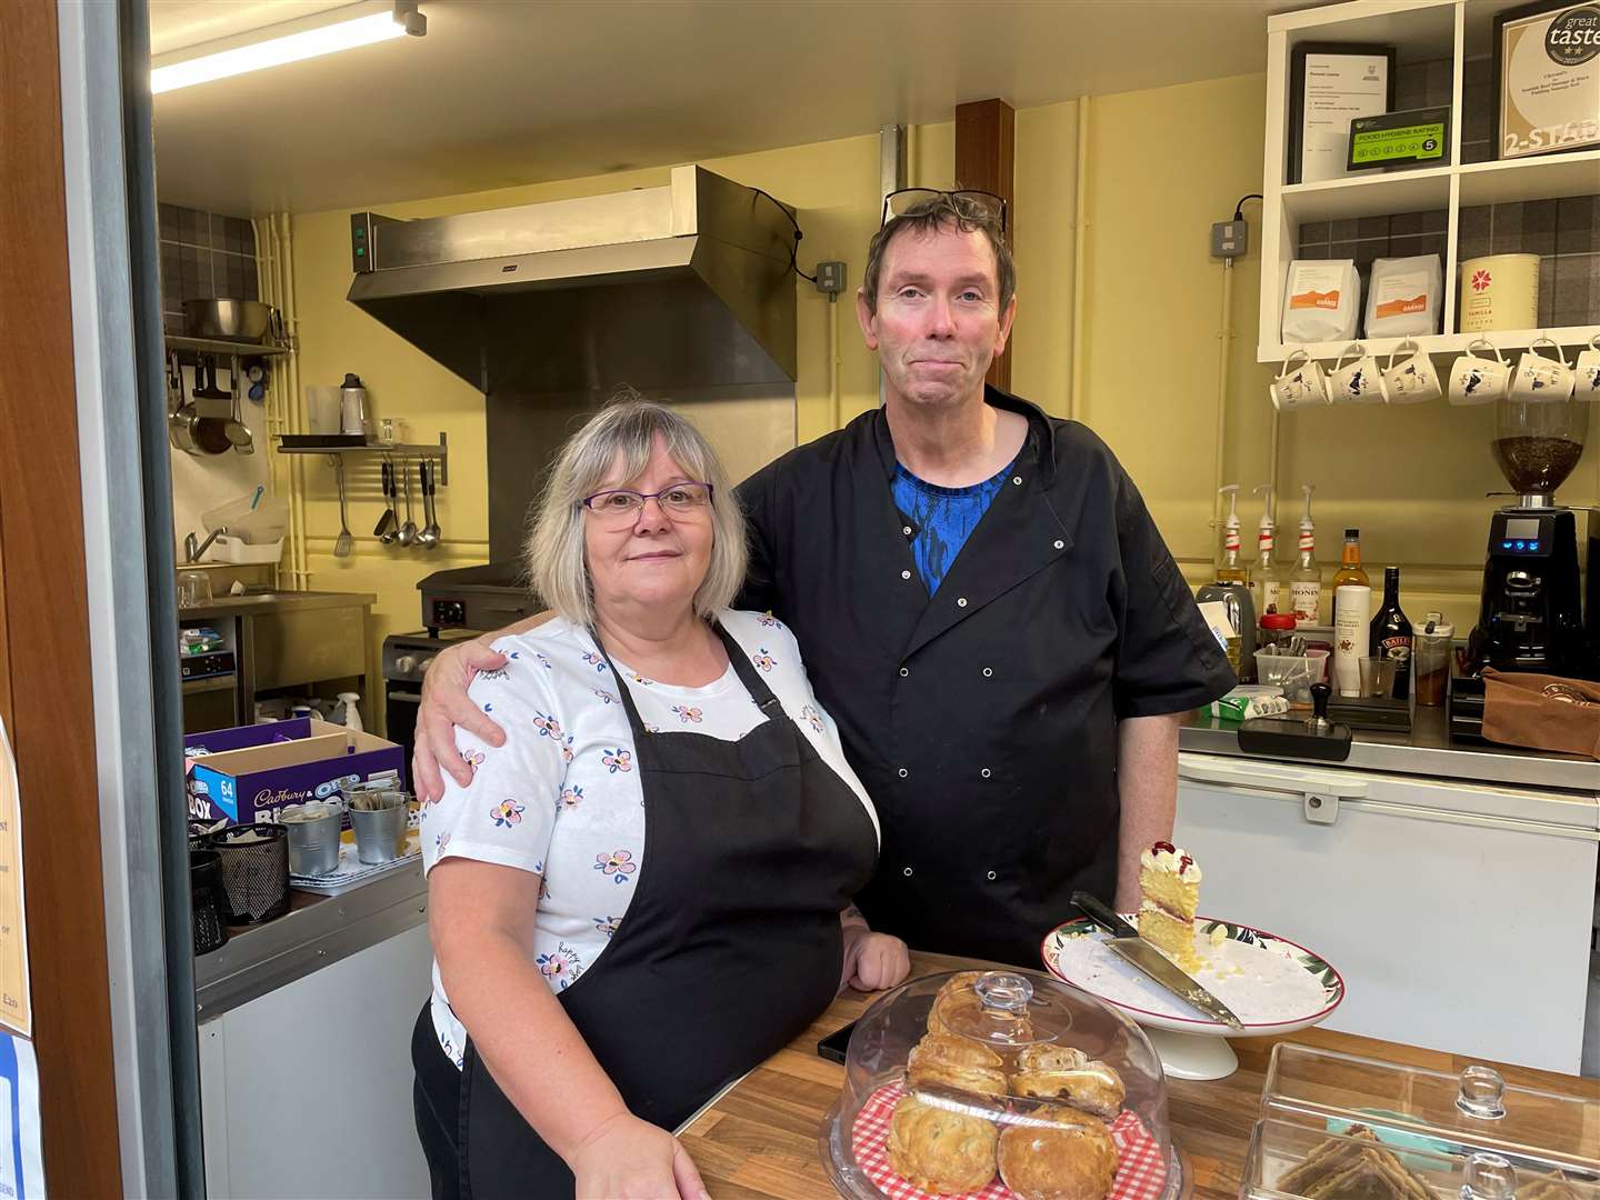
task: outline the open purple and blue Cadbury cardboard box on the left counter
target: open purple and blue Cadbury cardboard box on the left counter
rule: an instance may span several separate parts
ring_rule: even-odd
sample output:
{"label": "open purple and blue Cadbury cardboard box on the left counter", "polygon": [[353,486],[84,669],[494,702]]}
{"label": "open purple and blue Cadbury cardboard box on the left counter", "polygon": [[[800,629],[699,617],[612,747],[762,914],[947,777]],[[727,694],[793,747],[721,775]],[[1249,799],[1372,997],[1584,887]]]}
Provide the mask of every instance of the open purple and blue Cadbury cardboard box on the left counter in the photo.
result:
{"label": "open purple and blue Cadbury cardboard box on the left counter", "polygon": [[277,821],[286,805],[378,781],[405,787],[398,746],[310,717],[184,738],[184,790],[195,821]]}

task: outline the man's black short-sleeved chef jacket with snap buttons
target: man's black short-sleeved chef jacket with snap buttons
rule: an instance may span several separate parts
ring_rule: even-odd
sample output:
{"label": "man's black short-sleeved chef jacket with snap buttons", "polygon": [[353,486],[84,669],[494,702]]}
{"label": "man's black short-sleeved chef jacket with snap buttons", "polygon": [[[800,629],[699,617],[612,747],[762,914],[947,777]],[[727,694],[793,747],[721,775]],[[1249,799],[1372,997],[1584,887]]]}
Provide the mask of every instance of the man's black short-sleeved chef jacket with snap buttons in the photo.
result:
{"label": "man's black short-sleeved chef jacket with snap buttons", "polygon": [[1115,456],[1074,421],[989,387],[1029,437],[939,589],[894,506],[883,410],[739,486],[738,605],[800,640],[877,805],[874,930],[922,950],[1038,966],[1083,888],[1117,883],[1117,722],[1234,685]]}

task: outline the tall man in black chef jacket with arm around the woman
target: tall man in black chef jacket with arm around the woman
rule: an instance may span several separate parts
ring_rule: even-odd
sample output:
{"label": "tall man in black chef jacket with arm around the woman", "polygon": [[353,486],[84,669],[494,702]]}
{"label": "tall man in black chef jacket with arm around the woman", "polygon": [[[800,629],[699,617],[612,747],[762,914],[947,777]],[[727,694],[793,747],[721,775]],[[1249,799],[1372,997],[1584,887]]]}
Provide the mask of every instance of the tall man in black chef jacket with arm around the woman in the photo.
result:
{"label": "tall man in black chef jacket with arm around the woman", "polygon": [[[872,928],[1037,966],[1072,891],[1138,907],[1139,851],[1173,830],[1178,726],[1234,672],[1106,443],[984,384],[1014,293],[1003,202],[890,197],[856,296],[883,406],[739,486],[736,606],[795,632],[877,805]],[[488,640],[427,675],[422,794],[440,762],[466,774],[453,723],[498,739],[466,699],[499,666]]]}

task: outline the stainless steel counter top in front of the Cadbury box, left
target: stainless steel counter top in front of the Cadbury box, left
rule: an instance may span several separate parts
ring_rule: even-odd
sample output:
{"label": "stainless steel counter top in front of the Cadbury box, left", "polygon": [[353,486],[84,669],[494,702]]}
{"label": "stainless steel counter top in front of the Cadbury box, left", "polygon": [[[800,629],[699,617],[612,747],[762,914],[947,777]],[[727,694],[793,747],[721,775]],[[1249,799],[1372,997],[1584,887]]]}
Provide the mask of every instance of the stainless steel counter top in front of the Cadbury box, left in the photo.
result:
{"label": "stainless steel counter top in front of the Cadbury box, left", "polygon": [[[298,902],[307,901],[296,893]],[[330,963],[427,920],[427,883],[418,858],[339,896],[235,934],[195,958],[195,1013],[210,1021]]]}

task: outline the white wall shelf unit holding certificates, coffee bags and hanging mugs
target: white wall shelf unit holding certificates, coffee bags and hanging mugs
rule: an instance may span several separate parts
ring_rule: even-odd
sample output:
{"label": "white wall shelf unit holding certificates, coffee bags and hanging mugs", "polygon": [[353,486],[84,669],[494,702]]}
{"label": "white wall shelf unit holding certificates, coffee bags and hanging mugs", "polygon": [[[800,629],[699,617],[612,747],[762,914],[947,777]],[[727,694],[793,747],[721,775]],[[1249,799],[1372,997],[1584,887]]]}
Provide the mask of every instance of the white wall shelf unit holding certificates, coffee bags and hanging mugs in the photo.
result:
{"label": "white wall shelf unit holding certificates, coffee bags and hanging mugs", "polygon": [[[1280,336],[1283,285],[1296,256],[1301,226],[1352,218],[1402,213],[1445,213],[1443,325],[1445,333],[1418,339],[1430,354],[1454,354],[1475,338],[1488,336],[1501,350],[1517,350],[1541,336],[1565,347],[1581,347],[1600,334],[1594,323],[1560,328],[1496,330],[1490,334],[1456,333],[1461,210],[1528,200],[1600,195],[1600,150],[1579,150],[1539,158],[1462,163],[1462,90],[1467,61],[1490,51],[1494,13],[1507,0],[1352,0],[1267,19],[1267,128],[1262,170],[1261,325],[1256,360],[1283,362],[1296,349],[1333,360],[1349,342],[1285,346]],[[1291,61],[1294,48],[1310,42],[1366,42],[1394,45],[1398,70],[1418,64],[1450,62],[1450,162],[1387,174],[1354,174],[1341,179],[1285,184]],[[1438,99],[1437,102],[1443,102]],[[1387,355],[1402,339],[1363,339],[1378,355]]]}

